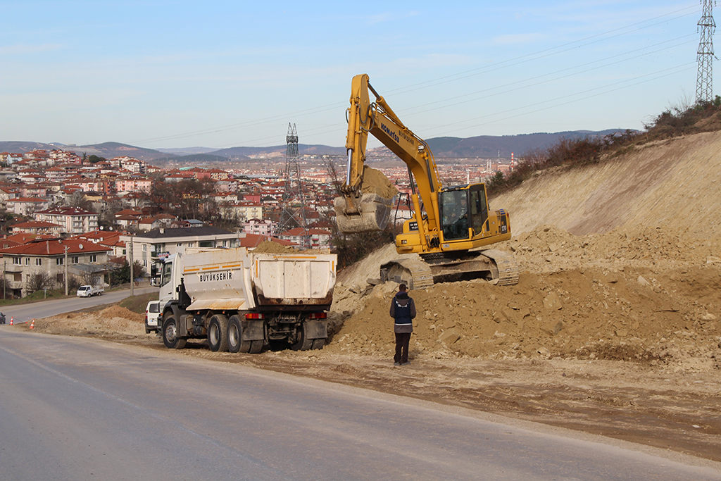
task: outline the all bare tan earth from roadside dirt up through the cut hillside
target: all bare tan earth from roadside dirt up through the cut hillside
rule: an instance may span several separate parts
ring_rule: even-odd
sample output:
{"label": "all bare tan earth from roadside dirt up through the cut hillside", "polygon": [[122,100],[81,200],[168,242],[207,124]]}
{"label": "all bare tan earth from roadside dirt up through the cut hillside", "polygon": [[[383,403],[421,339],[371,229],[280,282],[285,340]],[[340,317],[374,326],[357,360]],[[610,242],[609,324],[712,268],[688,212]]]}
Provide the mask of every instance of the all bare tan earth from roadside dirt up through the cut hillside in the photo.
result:
{"label": "all bare tan earth from roadside dirt up through the cut hillside", "polygon": [[[410,291],[410,366],[392,363],[386,246],[339,273],[323,350],[166,350],[117,306],[36,321],[92,335],[460,405],[721,462],[721,134],[547,172],[493,200],[514,237],[516,286]],[[371,280],[371,283],[368,281]],[[18,327],[27,328],[27,327]]]}

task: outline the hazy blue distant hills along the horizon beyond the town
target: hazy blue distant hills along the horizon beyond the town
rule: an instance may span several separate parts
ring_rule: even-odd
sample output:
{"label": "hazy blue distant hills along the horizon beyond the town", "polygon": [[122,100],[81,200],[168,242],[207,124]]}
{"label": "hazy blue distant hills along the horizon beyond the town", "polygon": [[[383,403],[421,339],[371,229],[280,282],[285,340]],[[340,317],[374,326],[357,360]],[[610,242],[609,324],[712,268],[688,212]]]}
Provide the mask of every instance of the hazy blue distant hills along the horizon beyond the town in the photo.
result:
{"label": "hazy blue distant hills along the horizon beyond the town", "polygon": [[[435,137],[427,139],[430,149],[436,158],[442,157],[510,157],[510,154],[522,156],[534,149],[547,149],[556,144],[559,138],[583,138],[585,136],[606,136],[609,133],[625,129],[609,129],[606,131],[567,131],[557,133],[528,133],[517,136],[477,136],[469,138]],[[64,144],[41,144],[38,142],[0,141],[0,152],[24,154],[32,149],[62,149],[74,151],[78,155],[88,154],[112,159],[117,156],[131,156],[146,161],[167,162],[171,159],[181,162],[223,162],[224,159],[242,161],[259,157],[282,157],[286,155],[286,145],[270,147],[231,147],[213,150],[205,147],[187,149],[144,149],[117,142],[105,142],[86,146],[70,146]],[[189,154],[182,156],[182,154]],[[298,154],[308,155],[345,155],[345,147],[324,145],[298,144]]]}

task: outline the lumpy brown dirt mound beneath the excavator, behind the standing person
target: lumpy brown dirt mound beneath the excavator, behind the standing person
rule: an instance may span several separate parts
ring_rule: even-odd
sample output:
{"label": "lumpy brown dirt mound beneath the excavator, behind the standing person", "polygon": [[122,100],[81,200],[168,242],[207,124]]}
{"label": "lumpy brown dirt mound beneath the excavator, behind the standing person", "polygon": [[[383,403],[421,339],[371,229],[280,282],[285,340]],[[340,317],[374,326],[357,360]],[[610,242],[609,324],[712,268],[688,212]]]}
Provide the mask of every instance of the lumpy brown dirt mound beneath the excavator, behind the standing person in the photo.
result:
{"label": "lumpy brown dirt mound beneath the excavator, behind the standing person", "polygon": [[[578,237],[542,226],[500,246],[516,252],[517,286],[469,281],[412,291],[419,315],[411,356],[719,369],[721,271],[707,244],[687,245],[660,228]],[[393,257],[386,246],[344,273],[333,309],[353,314],[327,349],[392,356],[388,310],[397,286],[366,280]]]}

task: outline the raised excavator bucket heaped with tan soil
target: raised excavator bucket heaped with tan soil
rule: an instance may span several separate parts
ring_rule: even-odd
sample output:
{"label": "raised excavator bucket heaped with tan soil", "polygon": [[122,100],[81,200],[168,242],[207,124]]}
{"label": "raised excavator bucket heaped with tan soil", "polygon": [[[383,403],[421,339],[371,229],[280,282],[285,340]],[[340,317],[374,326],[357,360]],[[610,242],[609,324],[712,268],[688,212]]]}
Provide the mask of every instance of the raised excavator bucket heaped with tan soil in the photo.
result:
{"label": "raised excavator bucket heaped with tan soil", "polygon": [[365,193],[360,198],[337,197],[333,199],[335,221],[344,234],[382,231],[391,216],[393,199],[376,193]]}

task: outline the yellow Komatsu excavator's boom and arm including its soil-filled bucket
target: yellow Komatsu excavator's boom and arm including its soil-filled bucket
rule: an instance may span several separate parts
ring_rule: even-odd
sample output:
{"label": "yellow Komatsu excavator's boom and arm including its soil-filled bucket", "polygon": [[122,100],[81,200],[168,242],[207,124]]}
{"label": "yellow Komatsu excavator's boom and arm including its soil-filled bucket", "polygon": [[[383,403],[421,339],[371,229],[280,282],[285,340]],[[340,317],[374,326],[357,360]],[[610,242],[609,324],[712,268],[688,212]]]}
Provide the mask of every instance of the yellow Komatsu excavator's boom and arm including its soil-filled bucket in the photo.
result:
{"label": "yellow Komatsu excavator's boom and arm including its soil-filled bucket", "polygon": [[[375,100],[371,100],[371,93]],[[335,211],[340,231],[361,232],[383,229],[389,218],[392,199],[373,192],[373,185],[364,182],[366,145],[368,134],[381,141],[407,164],[413,193],[413,208],[417,225],[427,230],[422,236],[425,243],[438,243],[438,172],[428,144],[407,128],[383,97],[371,87],[368,75],[353,77],[348,108],[348,134],[345,149],[348,164],[342,197],[335,200]],[[420,198],[426,203],[426,219],[421,219]],[[387,211],[386,214],[384,214]],[[377,219],[377,220],[376,220]],[[433,239],[436,239],[435,241]]]}

